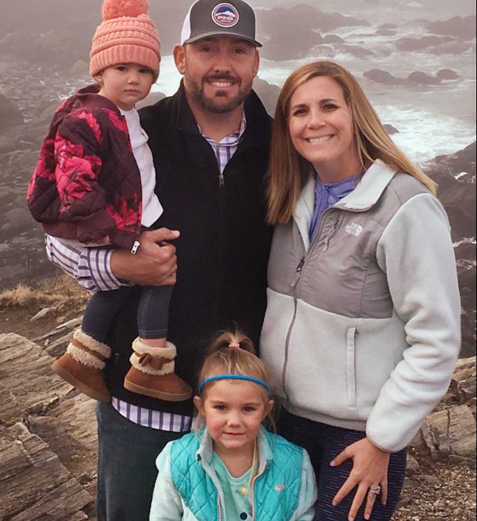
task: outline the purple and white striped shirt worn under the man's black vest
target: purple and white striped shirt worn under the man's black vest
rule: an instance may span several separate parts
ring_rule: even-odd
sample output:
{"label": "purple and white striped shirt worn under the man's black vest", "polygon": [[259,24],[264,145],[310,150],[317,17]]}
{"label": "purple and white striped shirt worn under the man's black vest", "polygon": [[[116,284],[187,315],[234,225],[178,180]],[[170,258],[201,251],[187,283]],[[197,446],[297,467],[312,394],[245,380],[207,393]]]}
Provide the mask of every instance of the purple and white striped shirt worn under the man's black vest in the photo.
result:
{"label": "purple and white striped shirt worn under the man's black vest", "polygon": [[[224,183],[225,166],[238,149],[245,127],[245,114],[243,114],[240,129],[236,133],[220,139],[220,142],[203,135],[215,153],[221,186]],[[88,291],[109,291],[121,286],[121,282],[111,271],[110,262],[111,255],[114,252],[113,248],[82,248],[81,246],[61,243],[49,235],[46,236],[45,241],[47,257],[50,262],[77,279],[79,284]],[[169,432],[185,432],[190,430],[192,423],[191,416],[145,409],[115,397],[112,398],[112,406],[121,416],[143,427]]]}

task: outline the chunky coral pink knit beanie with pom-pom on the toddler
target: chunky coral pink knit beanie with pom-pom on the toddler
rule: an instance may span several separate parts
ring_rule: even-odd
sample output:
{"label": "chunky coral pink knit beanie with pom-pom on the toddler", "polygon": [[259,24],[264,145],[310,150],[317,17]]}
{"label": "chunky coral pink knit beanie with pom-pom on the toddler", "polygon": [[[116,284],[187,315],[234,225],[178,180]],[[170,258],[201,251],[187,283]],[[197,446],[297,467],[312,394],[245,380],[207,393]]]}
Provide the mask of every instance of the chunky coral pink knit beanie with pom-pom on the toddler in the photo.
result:
{"label": "chunky coral pink knit beanie with pom-pom on the toddler", "polygon": [[158,79],[160,41],[147,15],[147,0],[104,0],[103,22],[96,29],[89,53],[89,72],[95,76],[117,63],[139,63]]}

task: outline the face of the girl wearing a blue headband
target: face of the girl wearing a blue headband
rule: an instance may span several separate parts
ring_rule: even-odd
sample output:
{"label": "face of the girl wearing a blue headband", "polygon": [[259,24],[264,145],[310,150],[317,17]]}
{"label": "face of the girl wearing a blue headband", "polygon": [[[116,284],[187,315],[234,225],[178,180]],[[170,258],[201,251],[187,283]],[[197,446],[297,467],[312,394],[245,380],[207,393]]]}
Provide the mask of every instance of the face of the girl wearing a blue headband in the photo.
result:
{"label": "face of the girl wearing a blue headband", "polygon": [[230,451],[251,455],[260,424],[273,405],[258,384],[229,379],[207,384],[202,397],[196,396],[194,402],[218,455]]}

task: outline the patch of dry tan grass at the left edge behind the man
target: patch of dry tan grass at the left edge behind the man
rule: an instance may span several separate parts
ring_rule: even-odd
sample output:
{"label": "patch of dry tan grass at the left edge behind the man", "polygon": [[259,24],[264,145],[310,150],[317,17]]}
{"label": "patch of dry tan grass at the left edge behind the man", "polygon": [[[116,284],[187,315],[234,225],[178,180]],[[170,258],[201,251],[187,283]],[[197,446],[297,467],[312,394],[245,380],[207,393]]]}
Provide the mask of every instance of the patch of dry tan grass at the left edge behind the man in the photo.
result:
{"label": "patch of dry tan grass at the left edge behind the man", "polygon": [[23,307],[25,305],[52,305],[66,300],[70,303],[83,304],[89,299],[89,294],[67,275],[51,278],[40,282],[36,287],[23,284],[0,293],[0,308]]}

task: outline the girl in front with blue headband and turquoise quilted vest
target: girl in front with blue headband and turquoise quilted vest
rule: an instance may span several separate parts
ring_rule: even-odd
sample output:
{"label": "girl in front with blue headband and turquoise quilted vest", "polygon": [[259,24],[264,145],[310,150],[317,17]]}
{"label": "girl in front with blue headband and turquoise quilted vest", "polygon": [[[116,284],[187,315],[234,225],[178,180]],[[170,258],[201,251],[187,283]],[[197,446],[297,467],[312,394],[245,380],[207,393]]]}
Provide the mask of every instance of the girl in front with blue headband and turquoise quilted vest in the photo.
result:
{"label": "girl in front with blue headband and turquoise quilted vest", "polygon": [[271,381],[249,338],[227,332],[213,342],[194,402],[197,429],[156,460],[150,521],[312,520],[310,458],[262,425]]}

